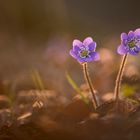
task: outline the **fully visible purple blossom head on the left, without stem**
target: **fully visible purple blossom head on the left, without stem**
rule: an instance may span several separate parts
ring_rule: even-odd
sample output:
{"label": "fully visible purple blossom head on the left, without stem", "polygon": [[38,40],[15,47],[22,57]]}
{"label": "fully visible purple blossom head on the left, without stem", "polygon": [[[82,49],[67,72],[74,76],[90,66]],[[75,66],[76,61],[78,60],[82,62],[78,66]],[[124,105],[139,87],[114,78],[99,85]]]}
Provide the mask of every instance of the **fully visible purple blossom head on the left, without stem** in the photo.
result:
{"label": "fully visible purple blossom head on the left, without stem", "polygon": [[100,57],[95,52],[95,49],[96,42],[91,37],[87,37],[83,42],[75,39],[73,41],[73,48],[70,50],[70,55],[80,63],[97,61]]}

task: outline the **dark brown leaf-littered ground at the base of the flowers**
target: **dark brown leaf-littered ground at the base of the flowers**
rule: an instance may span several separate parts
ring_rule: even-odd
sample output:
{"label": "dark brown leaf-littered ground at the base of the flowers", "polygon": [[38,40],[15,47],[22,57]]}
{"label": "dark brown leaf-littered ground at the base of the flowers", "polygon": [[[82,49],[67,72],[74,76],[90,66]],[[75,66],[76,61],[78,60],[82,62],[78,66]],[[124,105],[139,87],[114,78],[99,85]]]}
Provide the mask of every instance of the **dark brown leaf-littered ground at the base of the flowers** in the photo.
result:
{"label": "dark brown leaf-littered ground at the base of the flowers", "polygon": [[41,101],[32,107],[24,104],[18,111],[1,109],[0,140],[140,139],[140,106],[130,101],[109,100],[96,110],[91,102],[85,104],[81,99],[53,102],[51,106]]}

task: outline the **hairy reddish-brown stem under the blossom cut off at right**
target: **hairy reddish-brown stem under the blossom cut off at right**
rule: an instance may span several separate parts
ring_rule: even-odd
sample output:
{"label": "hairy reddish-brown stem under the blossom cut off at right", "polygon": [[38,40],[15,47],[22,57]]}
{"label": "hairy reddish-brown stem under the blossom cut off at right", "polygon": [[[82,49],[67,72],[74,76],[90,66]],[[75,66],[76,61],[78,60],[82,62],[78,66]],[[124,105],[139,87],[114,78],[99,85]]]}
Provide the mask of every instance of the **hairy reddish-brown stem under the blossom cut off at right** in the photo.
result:
{"label": "hairy reddish-brown stem under the blossom cut off at right", "polygon": [[116,85],[115,85],[115,90],[114,90],[116,101],[119,100],[120,86],[121,86],[122,76],[123,76],[124,67],[127,61],[127,57],[128,57],[128,54],[125,54],[123,56],[121,64],[120,64],[120,69],[116,78]]}

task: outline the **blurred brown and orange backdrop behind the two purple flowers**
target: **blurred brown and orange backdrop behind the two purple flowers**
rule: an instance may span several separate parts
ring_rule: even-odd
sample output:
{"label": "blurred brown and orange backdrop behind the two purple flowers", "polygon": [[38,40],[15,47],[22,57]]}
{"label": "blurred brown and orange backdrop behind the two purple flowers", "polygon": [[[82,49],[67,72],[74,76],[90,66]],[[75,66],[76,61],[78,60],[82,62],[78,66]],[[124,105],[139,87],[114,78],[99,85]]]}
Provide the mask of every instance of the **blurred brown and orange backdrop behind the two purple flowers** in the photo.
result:
{"label": "blurred brown and orange backdrop behind the two purple flowers", "polygon": [[[99,93],[112,92],[120,33],[140,27],[139,5],[139,0],[1,0],[0,84],[34,89],[38,75],[45,88],[71,96],[66,71],[78,86],[84,84],[81,66],[69,55],[72,41],[91,36],[101,55],[100,62],[89,64],[91,78]],[[139,81],[138,57],[129,57],[129,84]]]}

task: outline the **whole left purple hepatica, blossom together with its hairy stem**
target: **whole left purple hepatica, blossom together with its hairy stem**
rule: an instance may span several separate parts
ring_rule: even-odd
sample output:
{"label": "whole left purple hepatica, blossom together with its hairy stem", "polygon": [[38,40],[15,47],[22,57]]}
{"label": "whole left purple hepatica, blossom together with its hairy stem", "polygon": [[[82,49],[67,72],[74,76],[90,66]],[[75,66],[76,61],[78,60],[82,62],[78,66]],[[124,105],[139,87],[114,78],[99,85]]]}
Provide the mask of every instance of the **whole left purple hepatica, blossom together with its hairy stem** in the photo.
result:
{"label": "whole left purple hepatica, blossom together with its hairy stem", "polygon": [[87,62],[97,61],[100,59],[99,54],[95,52],[95,49],[96,49],[96,42],[94,42],[91,37],[87,37],[83,42],[75,39],[73,41],[73,48],[70,50],[70,55],[73,58],[75,58],[79,63],[82,63],[84,77],[93,97],[92,102],[93,102],[94,109],[98,107],[98,103],[95,96],[95,90],[92,86],[92,82],[88,73]]}

